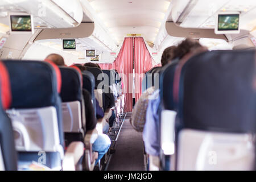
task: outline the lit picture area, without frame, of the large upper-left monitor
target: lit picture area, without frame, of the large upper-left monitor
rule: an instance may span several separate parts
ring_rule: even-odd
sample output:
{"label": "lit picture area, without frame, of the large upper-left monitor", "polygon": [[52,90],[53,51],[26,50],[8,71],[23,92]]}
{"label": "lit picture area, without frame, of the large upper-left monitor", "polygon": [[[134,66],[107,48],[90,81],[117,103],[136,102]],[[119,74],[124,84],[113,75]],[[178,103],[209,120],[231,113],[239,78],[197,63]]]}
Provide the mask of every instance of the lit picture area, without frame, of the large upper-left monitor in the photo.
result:
{"label": "lit picture area, without frame, of the large upper-left monitor", "polygon": [[10,15],[11,31],[31,32],[32,23],[30,15]]}

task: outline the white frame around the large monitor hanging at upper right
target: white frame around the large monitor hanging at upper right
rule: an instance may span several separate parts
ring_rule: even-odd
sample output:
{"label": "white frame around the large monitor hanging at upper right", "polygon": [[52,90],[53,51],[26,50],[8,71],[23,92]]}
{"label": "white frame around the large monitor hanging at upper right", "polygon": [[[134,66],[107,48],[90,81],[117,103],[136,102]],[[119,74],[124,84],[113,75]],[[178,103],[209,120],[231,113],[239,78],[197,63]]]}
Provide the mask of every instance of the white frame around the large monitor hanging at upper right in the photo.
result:
{"label": "white frame around the large monitor hanging at upper right", "polygon": [[[238,14],[238,30],[218,30],[218,15],[237,15]],[[239,34],[240,33],[240,22],[241,22],[241,13],[239,11],[220,11],[217,13],[216,16],[216,23],[215,23],[215,34]]]}

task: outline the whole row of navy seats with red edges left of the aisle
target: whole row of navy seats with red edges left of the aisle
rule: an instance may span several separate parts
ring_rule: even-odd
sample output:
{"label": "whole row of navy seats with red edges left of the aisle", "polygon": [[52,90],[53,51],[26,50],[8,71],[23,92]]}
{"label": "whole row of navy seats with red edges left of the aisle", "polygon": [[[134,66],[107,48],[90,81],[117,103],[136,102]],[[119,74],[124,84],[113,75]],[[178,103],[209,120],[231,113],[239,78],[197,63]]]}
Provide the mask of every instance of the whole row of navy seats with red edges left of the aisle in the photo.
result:
{"label": "whole row of navy seats with red edges left of the aisle", "polygon": [[105,114],[96,129],[85,130],[82,89],[92,95],[94,108],[97,97],[104,101],[103,91],[95,94],[98,79],[93,72],[47,60],[2,60],[0,68],[0,169],[43,164],[43,169],[92,170],[97,158],[92,143],[109,117]]}

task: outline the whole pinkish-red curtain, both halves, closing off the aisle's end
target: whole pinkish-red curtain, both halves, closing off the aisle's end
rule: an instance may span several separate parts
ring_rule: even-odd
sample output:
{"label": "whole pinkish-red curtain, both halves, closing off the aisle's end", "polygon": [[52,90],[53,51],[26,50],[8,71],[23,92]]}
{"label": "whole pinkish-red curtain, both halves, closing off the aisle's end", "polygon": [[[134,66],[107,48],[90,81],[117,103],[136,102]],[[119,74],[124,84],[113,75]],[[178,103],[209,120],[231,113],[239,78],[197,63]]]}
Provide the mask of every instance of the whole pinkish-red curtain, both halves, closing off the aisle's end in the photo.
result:
{"label": "whole pinkish-red curtain, both halves, closing off the aisle's end", "polygon": [[[133,51],[134,45],[134,51]],[[152,57],[143,38],[125,38],[117,59],[112,64],[99,64],[101,69],[117,69],[122,77],[125,111],[133,109],[133,56],[135,69],[135,101],[142,94],[142,78],[152,68]],[[154,65],[156,67],[158,65]]]}

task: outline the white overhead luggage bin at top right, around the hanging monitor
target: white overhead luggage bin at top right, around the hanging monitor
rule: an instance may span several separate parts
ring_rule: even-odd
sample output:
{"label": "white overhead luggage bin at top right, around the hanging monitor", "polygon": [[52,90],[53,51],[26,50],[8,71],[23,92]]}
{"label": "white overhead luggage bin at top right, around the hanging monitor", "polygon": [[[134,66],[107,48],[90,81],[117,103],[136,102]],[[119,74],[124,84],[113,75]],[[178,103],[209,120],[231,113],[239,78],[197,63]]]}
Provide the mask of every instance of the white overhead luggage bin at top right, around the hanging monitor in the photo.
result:
{"label": "white overhead luggage bin at top right, around the hanging monitor", "polygon": [[256,19],[255,0],[173,0],[172,12],[167,21],[181,27],[214,28],[218,11],[240,11],[241,28]]}

